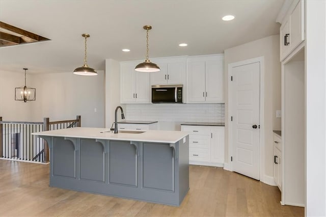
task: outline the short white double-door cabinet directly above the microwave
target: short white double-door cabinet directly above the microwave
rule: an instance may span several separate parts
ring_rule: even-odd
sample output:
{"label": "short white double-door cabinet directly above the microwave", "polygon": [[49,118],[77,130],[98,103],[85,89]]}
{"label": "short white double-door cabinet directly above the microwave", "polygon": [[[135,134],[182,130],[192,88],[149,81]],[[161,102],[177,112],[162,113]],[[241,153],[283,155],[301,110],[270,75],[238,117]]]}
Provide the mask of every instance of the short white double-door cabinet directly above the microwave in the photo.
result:
{"label": "short white double-door cabinet directly above the microwave", "polygon": [[151,73],[151,85],[182,85],[185,83],[185,58],[153,59],[160,71]]}

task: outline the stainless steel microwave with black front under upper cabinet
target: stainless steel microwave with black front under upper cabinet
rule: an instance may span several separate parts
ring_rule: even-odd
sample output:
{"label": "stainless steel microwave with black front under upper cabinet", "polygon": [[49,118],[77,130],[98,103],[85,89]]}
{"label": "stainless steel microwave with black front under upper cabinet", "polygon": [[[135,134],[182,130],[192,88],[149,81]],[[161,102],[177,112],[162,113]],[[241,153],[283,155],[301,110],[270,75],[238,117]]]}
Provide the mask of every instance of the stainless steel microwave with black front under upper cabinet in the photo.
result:
{"label": "stainless steel microwave with black front under upper cabinet", "polygon": [[152,86],[152,103],[182,103],[183,85]]}

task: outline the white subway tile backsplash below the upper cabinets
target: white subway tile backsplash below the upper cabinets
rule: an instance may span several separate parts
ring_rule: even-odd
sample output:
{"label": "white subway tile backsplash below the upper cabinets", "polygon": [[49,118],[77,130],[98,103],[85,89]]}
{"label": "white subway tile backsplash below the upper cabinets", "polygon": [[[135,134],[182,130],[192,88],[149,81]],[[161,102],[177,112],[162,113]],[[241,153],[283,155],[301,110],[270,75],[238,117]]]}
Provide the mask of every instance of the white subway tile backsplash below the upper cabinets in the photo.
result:
{"label": "white subway tile backsplash below the upper cabinets", "polygon": [[165,122],[224,122],[224,103],[127,104],[127,120]]}

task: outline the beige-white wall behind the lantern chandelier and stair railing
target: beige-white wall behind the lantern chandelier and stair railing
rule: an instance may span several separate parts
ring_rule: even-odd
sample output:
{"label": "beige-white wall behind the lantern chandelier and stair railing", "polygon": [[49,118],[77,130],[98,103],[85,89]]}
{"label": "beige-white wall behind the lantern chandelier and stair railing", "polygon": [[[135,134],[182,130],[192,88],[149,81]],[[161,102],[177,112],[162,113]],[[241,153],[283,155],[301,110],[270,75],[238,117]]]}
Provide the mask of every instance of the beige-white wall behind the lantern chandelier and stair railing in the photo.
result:
{"label": "beige-white wall behind the lantern chandelier and stair railing", "polygon": [[56,121],[81,115],[82,126],[104,127],[103,71],[97,76],[79,76],[72,72],[28,74],[27,85],[36,88],[36,101],[26,103],[14,100],[14,87],[24,84],[23,73],[2,71],[0,79],[3,120],[43,121],[49,117],[50,121]]}

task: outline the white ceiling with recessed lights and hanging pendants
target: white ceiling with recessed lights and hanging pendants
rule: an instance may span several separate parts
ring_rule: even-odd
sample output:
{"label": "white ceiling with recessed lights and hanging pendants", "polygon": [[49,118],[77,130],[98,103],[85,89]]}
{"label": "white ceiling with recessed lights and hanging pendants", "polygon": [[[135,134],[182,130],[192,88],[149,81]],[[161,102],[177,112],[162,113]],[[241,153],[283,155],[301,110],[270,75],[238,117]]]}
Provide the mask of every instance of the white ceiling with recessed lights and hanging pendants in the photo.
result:
{"label": "white ceiling with recessed lights and hanging pendants", "polygon": [[[282,1],[0,1],[0,20],[51,41],[0,48],[0,69],[30,73],[72,72],[88,64],[104,70],[105,59],[206,55],[279,34]],[[223,21],[224,15],[235,19]],[[179,43],[187,47],[179,47]],[[129,48],[130,52],[123,52]]]}

